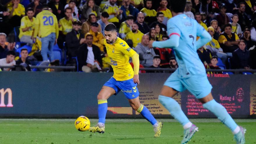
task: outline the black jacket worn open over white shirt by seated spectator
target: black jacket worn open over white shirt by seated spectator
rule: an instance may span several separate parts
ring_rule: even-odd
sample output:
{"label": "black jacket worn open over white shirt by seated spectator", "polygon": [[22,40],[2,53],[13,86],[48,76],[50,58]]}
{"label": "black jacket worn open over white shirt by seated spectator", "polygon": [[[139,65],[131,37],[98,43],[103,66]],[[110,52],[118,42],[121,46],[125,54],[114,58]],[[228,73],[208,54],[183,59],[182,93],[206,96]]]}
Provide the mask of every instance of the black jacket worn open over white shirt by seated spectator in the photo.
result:
{"label": "black jacket worn open over white shirt by seated spectator", "polygon": [[[93,54],[94,54],[94,59],[99,62],[99,64],[102,66],[102,58],[100,55],[100,49],[96,45],[92,45],[93,47]],[[83,44],[79,47],[78,49],[78,54],[77,54],[77,60],[78,60],[78,70],[82,71],[82,67],[84,65],[87,65],[86,60],[87,60],[87,55],[88,55],[88,49],[87,49],[87,44]]]}

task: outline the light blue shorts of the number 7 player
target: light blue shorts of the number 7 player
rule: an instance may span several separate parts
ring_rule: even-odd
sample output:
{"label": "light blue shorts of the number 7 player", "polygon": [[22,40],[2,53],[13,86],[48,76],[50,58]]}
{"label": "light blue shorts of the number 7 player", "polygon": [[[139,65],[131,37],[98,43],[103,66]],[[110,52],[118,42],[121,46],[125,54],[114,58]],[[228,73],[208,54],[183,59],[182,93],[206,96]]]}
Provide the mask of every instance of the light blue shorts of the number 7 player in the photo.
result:
{"label": "light blue shorts of the number 7 player", "polygon": [[177,70],[170,75],[164,83],[164,86],[168,86],[179,92],[188,89],[197,99],[206,97],[211,93],[212,89],[205,73],[194,74],[189,78],[182,79],[179,77]]}

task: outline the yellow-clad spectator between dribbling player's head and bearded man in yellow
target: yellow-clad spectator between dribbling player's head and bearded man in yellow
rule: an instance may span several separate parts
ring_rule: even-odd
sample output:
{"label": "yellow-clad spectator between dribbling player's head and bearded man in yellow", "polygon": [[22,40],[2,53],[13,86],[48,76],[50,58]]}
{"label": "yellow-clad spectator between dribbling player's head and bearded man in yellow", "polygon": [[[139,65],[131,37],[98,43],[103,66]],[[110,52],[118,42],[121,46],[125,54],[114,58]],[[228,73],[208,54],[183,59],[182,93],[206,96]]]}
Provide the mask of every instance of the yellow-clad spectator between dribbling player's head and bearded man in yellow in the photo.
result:
{"label": "yellow-clad spectator between dribbling player's head and bearded man in yellow", "polygon": [[132,15],[128,15],[126,21],[122,22],[119,29],[119,34],[122,39],[125,38],[126,34],[131,31],[131,24],[133,24],[134,17]]}

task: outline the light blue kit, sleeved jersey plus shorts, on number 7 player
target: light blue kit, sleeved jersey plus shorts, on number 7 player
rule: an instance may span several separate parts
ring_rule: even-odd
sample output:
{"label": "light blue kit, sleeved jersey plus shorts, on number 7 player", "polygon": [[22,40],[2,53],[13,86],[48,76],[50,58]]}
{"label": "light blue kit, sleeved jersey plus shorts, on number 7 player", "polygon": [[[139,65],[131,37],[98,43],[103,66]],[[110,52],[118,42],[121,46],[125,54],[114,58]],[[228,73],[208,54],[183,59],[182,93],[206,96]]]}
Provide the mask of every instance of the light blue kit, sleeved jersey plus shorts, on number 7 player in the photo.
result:
{"label": "light blue kit, sleeved jersey plus shorts, on number 7 player", "polygon": [[[164,83],[179,92],[188,89],[196,98],[211,92],[205,71],[196,50],[211,40],[211,35],[197,21],[179,14],[167,22],[169,40],[153,42],[153,47],[173,47],[179,68]],[[197,36],[201,36],[198,41]]]}

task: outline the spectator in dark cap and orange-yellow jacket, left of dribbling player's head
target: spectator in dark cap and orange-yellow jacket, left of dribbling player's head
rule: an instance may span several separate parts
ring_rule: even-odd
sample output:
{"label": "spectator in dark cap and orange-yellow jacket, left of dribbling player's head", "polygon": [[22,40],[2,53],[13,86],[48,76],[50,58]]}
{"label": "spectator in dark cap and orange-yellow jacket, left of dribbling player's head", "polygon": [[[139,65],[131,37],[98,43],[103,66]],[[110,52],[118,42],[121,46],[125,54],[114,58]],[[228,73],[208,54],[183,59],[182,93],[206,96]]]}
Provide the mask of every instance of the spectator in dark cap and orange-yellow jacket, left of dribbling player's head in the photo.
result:
{"label": "spectator in dark cap and orange-yellow jacket, left of dribbling player's head", "polygon": [[93,45],[99,47],[100,51],[104,51],[104,36],[101,32],[98,32],[98,30],[99,24],[97,22],[93,22],[89,33],[93,35]]}

